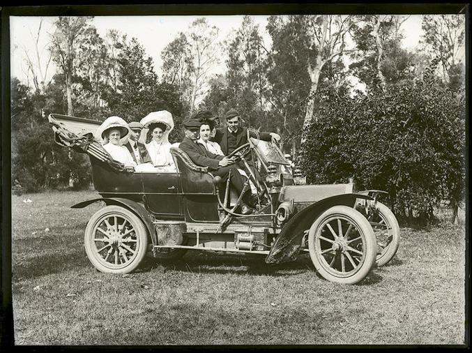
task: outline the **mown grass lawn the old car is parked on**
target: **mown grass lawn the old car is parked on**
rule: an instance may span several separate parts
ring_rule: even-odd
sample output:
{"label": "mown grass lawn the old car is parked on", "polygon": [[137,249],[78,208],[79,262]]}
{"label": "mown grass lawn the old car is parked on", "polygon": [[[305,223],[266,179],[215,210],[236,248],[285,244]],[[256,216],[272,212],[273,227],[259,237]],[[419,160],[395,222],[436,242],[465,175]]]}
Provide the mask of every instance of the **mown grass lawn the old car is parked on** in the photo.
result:
{"label": "mown grass lawn the old car is parked on", "polygon": [[397,256],[358,285],[321,279],[307,255],[277,266],[257,255],[149,255],[114,276],[84,250],[100,204],[70,209],[93,197],[12,195],[16,345],[464,344],[464,220],[402,228]]}

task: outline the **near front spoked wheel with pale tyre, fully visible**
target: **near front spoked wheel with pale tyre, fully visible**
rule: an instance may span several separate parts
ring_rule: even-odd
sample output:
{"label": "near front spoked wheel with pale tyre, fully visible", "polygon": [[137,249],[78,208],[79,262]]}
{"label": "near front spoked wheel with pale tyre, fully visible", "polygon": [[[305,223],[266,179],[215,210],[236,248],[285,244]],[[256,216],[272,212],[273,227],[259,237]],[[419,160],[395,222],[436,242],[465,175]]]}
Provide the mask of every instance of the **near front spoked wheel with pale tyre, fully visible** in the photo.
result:
{"label": "near front spoked wheel with pale tyre, fully visible", "polygon": [[323,278],[355,284],[374,265],[377,245],[369,221],[360,212],[348,206],[333,206],[310,227],[308,250]]}

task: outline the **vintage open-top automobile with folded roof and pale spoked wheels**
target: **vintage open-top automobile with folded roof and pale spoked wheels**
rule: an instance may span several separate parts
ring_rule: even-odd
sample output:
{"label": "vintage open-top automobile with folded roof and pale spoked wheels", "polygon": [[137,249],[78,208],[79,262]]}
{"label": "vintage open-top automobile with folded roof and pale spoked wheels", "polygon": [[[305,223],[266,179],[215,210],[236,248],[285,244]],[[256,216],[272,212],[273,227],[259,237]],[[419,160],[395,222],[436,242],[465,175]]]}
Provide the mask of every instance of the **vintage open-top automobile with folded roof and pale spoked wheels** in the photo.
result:
{"label": "vintage open-top automobile with folded roof and pale spoked wheels", "polygon": [[352,179],[306,185],[274,142],[250,137],[231,153],[241,163],[252,160],[264,177],[258,183],[249,173],[245,188],[252,179],[268,203],[259,200],[257,211],[242,215],[242,193],[195,165],[178,144],[171,149],[176,172],[129,172],[93,137],[96,121],[59,114],[50,114],[49,121],[58,144],[89,154],[100,197],[72,207],[106,205],[84,234],[86,254],[99,271],[129,273],[149,248],[160,259],[177,260],[191,249],[261,254],[269,264],[307,252],[323,278],[354,284],[397,251],[399,227],[378,202],[381,191],[356,193]]}

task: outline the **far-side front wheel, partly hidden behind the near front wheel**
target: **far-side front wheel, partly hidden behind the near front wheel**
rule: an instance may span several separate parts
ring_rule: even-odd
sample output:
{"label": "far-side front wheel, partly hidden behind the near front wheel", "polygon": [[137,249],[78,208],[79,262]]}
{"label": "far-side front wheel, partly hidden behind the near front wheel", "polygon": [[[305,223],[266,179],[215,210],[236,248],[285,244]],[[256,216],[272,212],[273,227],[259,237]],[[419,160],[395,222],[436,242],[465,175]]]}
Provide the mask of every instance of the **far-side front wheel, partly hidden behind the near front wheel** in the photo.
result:
{"label": "far-side front wheel, partly hidden behind the near front wheel", "polygon": [[377,266],[383,266],[395,256],[400,243],[400,227],[390,209],[377,202],[374,211],[367,218],[377,240],[380,254],[376,257]]}

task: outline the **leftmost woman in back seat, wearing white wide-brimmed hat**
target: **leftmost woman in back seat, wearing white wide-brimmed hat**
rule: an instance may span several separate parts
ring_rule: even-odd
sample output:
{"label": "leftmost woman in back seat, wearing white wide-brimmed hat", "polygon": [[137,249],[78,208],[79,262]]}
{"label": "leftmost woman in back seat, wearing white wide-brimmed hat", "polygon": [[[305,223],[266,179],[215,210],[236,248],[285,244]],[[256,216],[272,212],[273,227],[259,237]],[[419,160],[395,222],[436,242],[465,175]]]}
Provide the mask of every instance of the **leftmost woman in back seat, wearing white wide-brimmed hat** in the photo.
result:
{"label": "leftmost woman in back seat, wearing white wide-brimmed hat", "polygon": [[120,117],[108,117],[99,126],[96,135],[102,138],[103,148],[114,160],[125,166],[136,166],[130,151],[123,146],[123,142],[127,141],[128,135],[130,135],[130,128],[126,121]]}

